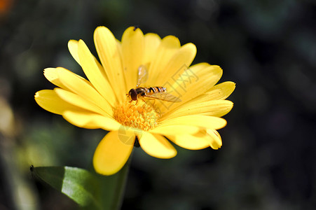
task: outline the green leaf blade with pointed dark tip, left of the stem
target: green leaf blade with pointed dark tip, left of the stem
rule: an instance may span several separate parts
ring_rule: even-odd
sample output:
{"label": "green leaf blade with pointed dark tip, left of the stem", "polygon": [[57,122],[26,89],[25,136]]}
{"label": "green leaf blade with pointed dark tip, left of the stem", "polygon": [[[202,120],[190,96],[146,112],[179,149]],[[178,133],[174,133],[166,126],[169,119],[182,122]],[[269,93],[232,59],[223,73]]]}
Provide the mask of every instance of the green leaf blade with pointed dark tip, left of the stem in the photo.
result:
{"label": "green leaf blade with pointed dark tip, left of the stem", "polygon": [[99,209],[98,177],[76,167],[33,167],[34,176],[64,193],[81,207]]}

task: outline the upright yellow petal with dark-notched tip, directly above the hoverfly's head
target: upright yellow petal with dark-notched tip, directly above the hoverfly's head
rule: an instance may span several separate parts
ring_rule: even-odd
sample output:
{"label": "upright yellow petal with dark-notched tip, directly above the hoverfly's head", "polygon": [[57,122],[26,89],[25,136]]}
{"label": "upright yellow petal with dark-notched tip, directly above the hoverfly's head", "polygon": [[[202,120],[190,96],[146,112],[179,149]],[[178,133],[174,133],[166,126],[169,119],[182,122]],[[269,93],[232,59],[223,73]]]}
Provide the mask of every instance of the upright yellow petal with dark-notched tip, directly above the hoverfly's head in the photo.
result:
{"label": "upright yellow petal with dark-notched tip, directly above the hoverfly's head", "polygon": [[144,56],[144,34],[140,29],[129,27],[122,36],[123,72],[126,91],[137,85],[138,67]]}

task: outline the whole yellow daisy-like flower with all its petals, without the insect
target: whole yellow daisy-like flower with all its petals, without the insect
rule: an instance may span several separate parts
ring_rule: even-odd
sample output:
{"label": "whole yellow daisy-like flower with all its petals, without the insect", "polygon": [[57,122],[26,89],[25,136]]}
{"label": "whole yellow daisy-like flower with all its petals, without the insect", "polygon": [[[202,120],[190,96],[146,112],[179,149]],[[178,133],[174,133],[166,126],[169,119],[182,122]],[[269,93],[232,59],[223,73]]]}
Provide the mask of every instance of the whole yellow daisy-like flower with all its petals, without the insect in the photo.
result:
{"label": "whole yellow daisy-like flower with all its petals, without the insect", "polygon": [[[58,87],[36,92],[35,99],[43,109],[73,125],[110,131],[95,151],[96,172],[118,172],[135,139],[156,158],[177,155],[170,141],[191,150],[221,147],[217,130],[226,125],[221,116],[233,108],[225,99],[235,83],[216,85],[222,75],[219,66],[190,66],[196,54],[193,43],[181,46],[175,36],[144,35],[135,27],[125,30],[121,42],[106,27],[97,27],[94,40],[100,62],[82,40],[68,43],[88,80],[62,67],[45,69],[46,78]],[[126,94],[136,88],[140,66],[148,72],[140,87],[166,87],[181,102],[140,96],[130,102]]]}

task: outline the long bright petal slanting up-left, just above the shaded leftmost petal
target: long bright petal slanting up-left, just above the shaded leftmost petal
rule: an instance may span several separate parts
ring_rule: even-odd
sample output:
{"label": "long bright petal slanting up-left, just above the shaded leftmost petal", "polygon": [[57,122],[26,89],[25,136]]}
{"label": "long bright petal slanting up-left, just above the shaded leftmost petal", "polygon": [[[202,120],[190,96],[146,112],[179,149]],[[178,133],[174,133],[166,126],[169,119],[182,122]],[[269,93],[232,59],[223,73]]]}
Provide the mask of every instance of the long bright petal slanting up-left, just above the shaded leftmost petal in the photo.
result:
{"label": "long bright petal slanting up-left, just above the shaded leftmost petal", "polygon": [[99,108],[103,109],[106,113],[109,113],[110,116],[113,115],[112,106],[95,90],[95,87],[93,87],[88,80],[85,80],[67,69],[60,67],[56,69],[60,82],[66,86],[68,90],[99,106]]}

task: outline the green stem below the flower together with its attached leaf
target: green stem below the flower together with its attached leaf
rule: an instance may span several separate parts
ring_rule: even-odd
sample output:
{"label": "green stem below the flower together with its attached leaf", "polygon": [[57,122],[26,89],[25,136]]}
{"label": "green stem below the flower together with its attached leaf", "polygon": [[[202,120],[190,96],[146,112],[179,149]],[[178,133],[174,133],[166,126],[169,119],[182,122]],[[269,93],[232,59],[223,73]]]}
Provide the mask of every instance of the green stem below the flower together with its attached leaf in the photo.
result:
{"label": "green stem below the flower together with its attached leaf", "polygon": [[67,195],[82,209],[121,209],[131,157],[116,174],[102,176],[75,167],[30,167],[32,174]]}

